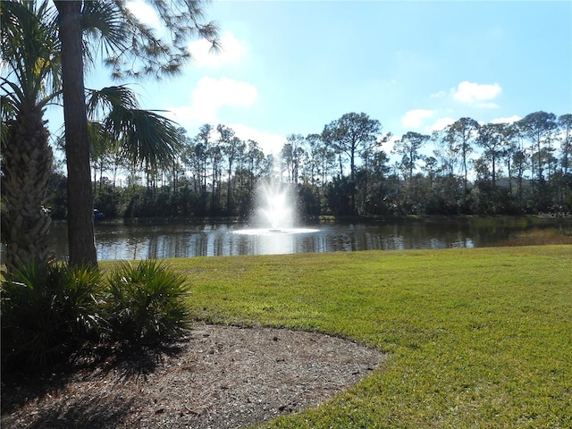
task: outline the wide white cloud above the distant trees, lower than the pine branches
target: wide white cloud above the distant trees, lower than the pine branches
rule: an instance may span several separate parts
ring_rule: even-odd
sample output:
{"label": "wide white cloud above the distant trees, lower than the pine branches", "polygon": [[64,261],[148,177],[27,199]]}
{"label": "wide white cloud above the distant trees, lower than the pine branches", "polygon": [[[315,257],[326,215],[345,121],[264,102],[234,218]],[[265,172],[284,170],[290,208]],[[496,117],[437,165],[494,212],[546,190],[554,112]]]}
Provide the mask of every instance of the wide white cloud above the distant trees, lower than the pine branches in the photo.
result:
{"label": "wide white cloud above the distant trees, lower than the pine branches", "polygon": [[198,80],[190,95],[190,105],[171,107],[174,120],[181,124],[218,122],[223,106],[248,107],[258,100],[257,87],[248,82],[222,77]]}

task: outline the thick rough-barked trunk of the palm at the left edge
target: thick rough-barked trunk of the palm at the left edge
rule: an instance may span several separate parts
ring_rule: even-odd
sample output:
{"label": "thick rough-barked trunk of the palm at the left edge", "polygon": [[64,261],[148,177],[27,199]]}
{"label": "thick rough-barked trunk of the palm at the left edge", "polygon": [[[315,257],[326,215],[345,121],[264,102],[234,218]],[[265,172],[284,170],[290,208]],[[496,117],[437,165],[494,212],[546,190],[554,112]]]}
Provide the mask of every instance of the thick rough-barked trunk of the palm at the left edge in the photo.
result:
{"label": "thick rough-barked trunk of the palm at the left edge", "polygon": [[42,117],[38,107],[21,111],[8,124],[8,135],[2,145],[2,240],[8,273],[29,261],[46,261],[48,256],[51,218],[42,205],[53,156]]}

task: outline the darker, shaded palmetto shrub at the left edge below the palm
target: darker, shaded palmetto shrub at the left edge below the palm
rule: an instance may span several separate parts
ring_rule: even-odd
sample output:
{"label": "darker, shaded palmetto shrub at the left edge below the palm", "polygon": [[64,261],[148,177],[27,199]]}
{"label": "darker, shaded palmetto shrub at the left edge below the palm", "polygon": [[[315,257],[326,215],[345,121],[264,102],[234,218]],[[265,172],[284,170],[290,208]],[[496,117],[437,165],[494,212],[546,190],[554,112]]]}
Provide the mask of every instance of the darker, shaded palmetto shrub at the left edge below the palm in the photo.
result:
{"label": "darker, shaded palmetto shrub at the left edge below the palm", "polygon": [[22,265],[2,282],[2,359],[42,370],[105,330],[97,269]]}

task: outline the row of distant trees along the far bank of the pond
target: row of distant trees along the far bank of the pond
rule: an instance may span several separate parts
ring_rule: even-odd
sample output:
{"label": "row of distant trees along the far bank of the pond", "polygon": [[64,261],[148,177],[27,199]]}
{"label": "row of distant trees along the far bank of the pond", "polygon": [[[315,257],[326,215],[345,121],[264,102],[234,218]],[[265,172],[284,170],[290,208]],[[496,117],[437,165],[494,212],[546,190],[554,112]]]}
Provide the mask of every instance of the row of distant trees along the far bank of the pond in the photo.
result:
{"label": "row of distant trees along the far bank of the pond", "polygon": [[[171,156],[154,166],[102,147],[92,153],[92,184],[107,217],[248,219],[257,183],[273,175],[297,190],[301,220],[565,213],[572,207],[571,145],[572,114],[545,112],[512,123],[460,118],[430,135],[408,131],[400,139],[383,134],[367,114],[349,113],[320,133],[288,135],[278,154],[265,154],[228,126],[204,124],[194,136],[180,128]],[[62,180],[56,174],[53,189]],[[59,190],[54,195],[61,198]],[[55,216],[63,215],[63,201],[54,203]]]}

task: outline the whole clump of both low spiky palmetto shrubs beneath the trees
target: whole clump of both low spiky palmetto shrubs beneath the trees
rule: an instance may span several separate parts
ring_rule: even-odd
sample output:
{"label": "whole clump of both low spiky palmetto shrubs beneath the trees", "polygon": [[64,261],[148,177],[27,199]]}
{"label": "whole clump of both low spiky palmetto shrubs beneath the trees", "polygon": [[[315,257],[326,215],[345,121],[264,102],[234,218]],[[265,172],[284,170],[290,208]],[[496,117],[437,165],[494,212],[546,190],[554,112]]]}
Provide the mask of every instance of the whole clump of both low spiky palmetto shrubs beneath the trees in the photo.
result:
{"label": "whole clump of both low spiky palmetto shrubs beneath the trees", "polygon": [[22,265],[2,282],[2,365],[44,371],[105,341],[169,341],[189,327],[185,277],[156,260]]}

